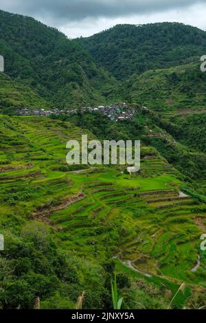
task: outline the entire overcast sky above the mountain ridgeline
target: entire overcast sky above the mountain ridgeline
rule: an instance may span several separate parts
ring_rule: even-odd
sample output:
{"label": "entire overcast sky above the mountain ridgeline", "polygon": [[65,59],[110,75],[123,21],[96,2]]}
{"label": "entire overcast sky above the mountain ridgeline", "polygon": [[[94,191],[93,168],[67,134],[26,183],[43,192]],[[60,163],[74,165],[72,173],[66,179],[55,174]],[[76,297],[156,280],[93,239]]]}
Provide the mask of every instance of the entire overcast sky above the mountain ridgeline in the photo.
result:
{"label": "entire overcast sky above the mountain ridgeline", "polygon": [[206,0],[0,0],[0,9],[33,16],[69,38],[117,23],[179,21],[206,30]]}

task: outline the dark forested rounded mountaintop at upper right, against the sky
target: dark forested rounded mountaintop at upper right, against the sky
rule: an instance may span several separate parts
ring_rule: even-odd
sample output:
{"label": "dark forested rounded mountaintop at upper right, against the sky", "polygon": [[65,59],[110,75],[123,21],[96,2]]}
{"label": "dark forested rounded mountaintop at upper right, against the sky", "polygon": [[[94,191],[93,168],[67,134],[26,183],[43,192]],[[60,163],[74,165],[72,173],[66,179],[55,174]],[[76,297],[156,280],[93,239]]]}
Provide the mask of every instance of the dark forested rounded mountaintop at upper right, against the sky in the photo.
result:
{"label": "dark forested rounded mountaintop at upper right, against the sky", "polygon": [[79,38],[95,58],[119,80],[151,69],[199,61],[206,51],[206,32],[182,23],[116,25]]}

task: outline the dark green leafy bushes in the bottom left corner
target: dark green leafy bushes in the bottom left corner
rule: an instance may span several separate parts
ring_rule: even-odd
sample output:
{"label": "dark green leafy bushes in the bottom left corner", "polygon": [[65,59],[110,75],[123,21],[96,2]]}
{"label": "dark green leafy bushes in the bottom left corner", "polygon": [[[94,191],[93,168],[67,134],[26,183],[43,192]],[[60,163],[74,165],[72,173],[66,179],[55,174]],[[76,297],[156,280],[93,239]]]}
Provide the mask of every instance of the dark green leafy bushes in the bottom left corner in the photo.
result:
{"label": "dark green leafy bushes in the bottom left corner", "polygon": [[60,254],[43,223],[28,223],[21,237],[4,234],[5,251],[0,258],[0,304],[4,309],[32,309],[37,296],[41,300],[54,297],[57,290],[62,293],[62,284],[78,282],[76,270]]}

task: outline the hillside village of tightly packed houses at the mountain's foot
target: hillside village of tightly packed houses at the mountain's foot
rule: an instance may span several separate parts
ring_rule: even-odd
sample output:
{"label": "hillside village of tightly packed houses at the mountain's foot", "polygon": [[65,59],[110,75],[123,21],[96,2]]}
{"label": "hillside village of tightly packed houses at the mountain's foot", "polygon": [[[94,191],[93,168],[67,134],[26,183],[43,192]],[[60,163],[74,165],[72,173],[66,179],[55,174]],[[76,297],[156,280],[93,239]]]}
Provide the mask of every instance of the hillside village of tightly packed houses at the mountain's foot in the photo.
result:
{"label": "hillside village of tightly packed houses at the mountain's foot", "polygon": [[[118,120],[126,120],[133,118],[133,114],[135,113],[134,109],[129,107],[126,103],[121,102],[118,104],[111,104],[108,106],[99,106],[99,107],[82,107],[80,111],[90,111],[95,112],[99,111],[103,115],[107,115],[108,118],[114,121]],[[78,109],[71,110],[45,110],[45,109],[21,109],[18,111],[19,115],[72,115],[78,113]]]}

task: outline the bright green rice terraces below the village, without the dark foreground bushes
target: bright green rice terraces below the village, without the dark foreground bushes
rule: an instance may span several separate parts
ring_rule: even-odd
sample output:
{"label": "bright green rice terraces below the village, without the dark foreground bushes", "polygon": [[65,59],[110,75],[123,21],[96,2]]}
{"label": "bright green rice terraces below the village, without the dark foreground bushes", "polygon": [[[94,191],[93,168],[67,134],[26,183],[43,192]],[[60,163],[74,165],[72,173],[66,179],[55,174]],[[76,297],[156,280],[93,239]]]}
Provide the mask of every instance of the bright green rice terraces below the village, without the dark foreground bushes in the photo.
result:
{"label": "bright green rice terraces below the village, without the dark foreground bushes", "polygon": [[45,221],[58,244],[82,258],[115,256],[154,279],[205,286],[203,264],[192,269],[206,205],[180,191],[179,172],[154,148],[141,148],[137,175],[122,166],[68,166],[66,142],[87,131],[47,118],[0,122],[0,221]]}

